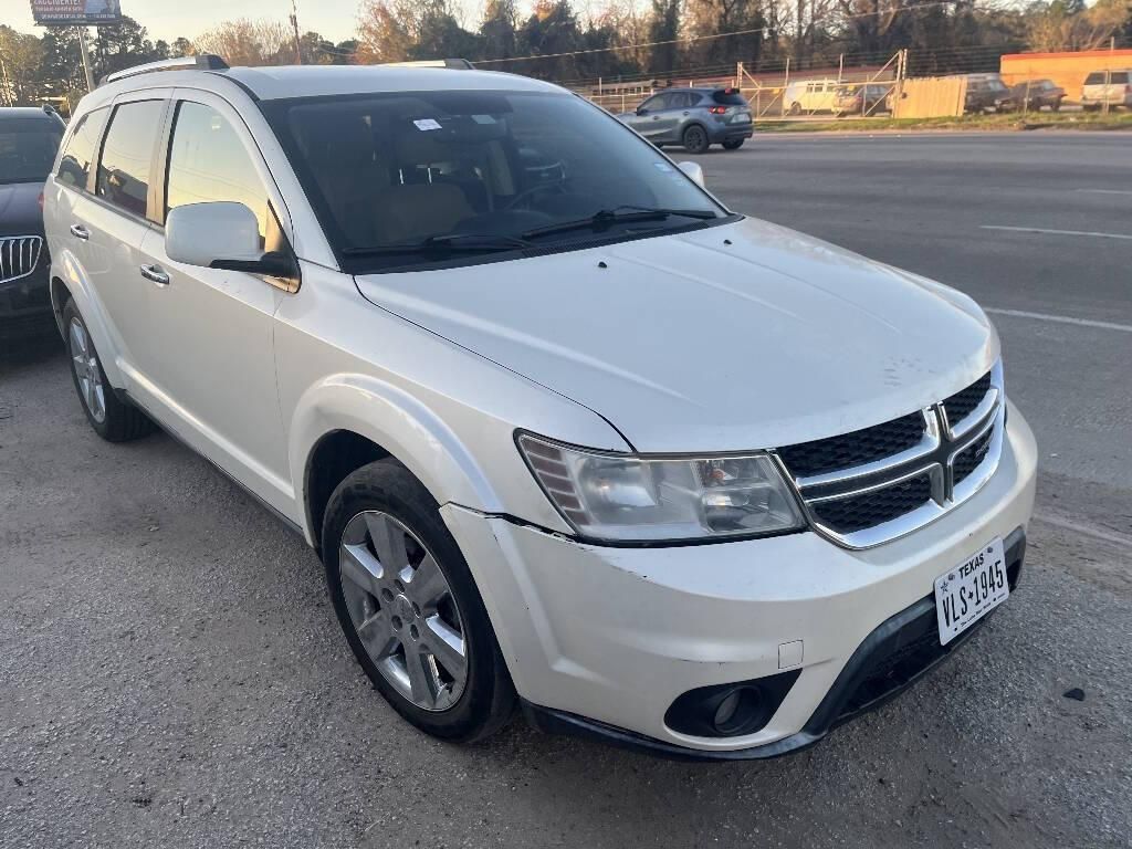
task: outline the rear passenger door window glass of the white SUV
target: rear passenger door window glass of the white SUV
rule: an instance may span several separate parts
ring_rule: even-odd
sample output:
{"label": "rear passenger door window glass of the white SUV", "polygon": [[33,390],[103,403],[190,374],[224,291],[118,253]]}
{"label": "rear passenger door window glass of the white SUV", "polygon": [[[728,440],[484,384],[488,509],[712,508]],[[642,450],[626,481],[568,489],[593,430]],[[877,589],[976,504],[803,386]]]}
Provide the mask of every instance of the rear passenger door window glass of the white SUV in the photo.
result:
{"label": "rear passenger door window glass of the white SUV", "polygon": [[164,101],[123,103],[114,110],[102,143],[95,194],[128,213],[145,217]]}

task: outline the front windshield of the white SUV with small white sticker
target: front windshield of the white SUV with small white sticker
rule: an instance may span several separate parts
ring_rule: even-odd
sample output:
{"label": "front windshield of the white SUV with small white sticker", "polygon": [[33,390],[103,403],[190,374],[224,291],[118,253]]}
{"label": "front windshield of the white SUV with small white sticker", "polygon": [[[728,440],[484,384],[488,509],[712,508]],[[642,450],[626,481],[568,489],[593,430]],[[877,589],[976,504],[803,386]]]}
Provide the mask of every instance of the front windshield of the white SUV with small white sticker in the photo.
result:
{"label": "front windshield of the white SUV with small white sticker", "polygon": [[[629,207],[727,214],[651,145],[569,94],[397,92],[260,106],[354,273],[432,265],[436,251],[389,250],[428,240],[471,252],[495,237],[515,251],[711,223],[599,215]],[[557,226],[591,216],[593,228]]]}

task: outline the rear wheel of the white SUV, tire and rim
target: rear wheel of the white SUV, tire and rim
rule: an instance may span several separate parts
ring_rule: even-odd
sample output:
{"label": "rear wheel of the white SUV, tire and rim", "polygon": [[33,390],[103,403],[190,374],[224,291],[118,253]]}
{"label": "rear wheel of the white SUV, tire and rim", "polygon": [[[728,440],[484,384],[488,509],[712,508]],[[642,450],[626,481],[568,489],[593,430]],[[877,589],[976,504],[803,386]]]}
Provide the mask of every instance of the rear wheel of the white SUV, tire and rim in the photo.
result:
{"label": "rear wheel of the white SUV, tire and rim", "polygon": [[75,392],[94,432],[108,443],[126,443],[153,432],[154,423],[136,406],[119,398],[106,379],[74,298],[68,298],[63,307],[63,333]]}

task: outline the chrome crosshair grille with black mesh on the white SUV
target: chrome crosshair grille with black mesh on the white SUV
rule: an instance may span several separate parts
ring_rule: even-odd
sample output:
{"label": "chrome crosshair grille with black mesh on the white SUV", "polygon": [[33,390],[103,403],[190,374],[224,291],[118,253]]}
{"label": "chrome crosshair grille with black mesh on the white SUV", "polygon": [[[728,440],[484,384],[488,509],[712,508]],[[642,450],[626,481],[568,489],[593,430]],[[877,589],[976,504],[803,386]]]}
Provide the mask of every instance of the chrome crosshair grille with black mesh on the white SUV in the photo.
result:
{"label": "chrome crosshair grille with black mesh on the white SUV", "polygon": [[924,410],[777,453],[814,529],[868,548],[938,518],[998,465],[1005,424],[1002,367]]}

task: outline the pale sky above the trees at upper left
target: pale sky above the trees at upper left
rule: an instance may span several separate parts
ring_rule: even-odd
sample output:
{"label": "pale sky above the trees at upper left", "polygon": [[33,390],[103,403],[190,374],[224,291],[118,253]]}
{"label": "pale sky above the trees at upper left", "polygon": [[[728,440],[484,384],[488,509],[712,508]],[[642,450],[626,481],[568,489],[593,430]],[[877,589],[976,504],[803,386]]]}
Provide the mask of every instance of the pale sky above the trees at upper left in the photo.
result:
{"label": "pale sky above the trees at upper left", "polygon": [[[299,27],[334,42],[352,38],[360,0],[298,0]],[[221,20],[274,18],[286,20],[291,0],[121,0],[122,14],[149,29],[151,38],[192,38]],[[477,2],[472,2],[478,6]],[[32,23],[28,0],[0,0],[0,24],[20,32],[41,32]]]}

